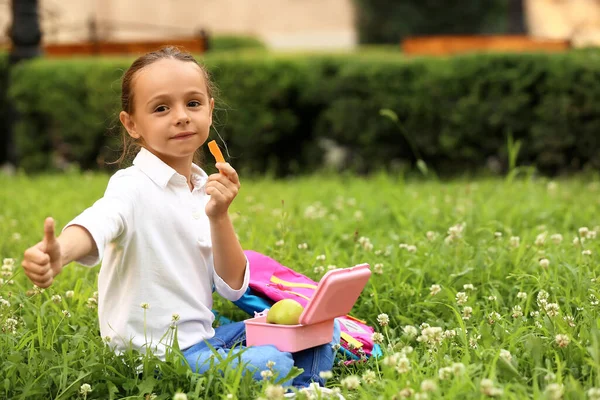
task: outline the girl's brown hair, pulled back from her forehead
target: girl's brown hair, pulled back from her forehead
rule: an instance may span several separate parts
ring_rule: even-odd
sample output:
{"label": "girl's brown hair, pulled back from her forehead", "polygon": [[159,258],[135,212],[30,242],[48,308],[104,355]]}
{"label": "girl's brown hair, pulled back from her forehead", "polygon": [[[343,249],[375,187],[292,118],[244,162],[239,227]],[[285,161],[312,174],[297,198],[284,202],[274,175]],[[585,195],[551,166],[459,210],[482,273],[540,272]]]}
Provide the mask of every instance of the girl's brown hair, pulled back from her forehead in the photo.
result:
{"label": "girl's brown hair, pulled back from her forehead", "polygon": [[[121,107],[123,111],[125,111],[127,114],[132,115],[135,112],[133,107],[133,79],[135,78],[136,73],[142,70],[143,68],[147,67],[148,65],[163,59],[173,59],[184,62],[192,62],[196,64],[200,68],[200,71],[204,76],[204,82],[206,82],[208,98],[214,98],[216,88],[206,68],[204,68],[200,63],[198,63],[198,61],[196,61],[194,56],[192,56],[190,53],[181,51],[174,46],[167,46],[161,48],[160,50],[152,51],[150,53],[146,53],[143,56],[138,57],[133,62],[133,64],[131,64],[129,69],[127,69],[127,71],[125,71],[125,73],[123,74],[123,80],[121,82]],[[140,147],[144,145],[143,139],[138,140],[132,138],[131,136],[129,136],[129,134],[124,128],[121,129],[121,143],[123,146],[121,150],[121,156],[111,164],[118,163],[119,165],[122,165],[125,161],[128,161]],[[200,149],[198,149],[196,151],[196,154],[194,155],[194,162],[200,163],[201,159],[202,152],[200,151]]]}

